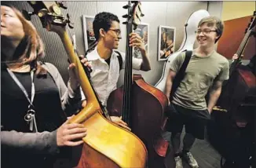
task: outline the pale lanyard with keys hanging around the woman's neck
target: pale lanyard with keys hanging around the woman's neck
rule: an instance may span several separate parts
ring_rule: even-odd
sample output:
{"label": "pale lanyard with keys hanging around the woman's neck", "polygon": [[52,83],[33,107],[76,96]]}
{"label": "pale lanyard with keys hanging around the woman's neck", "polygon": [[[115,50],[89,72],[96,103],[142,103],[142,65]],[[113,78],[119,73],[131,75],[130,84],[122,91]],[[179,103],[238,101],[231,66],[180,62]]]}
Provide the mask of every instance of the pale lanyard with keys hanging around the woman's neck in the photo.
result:
{"label": "pale lanyard with keys hanging around the woman's neck", "polygon": [[9,68],[7,68],[7,71],[9,75],[12,77],[14,82],[20,87],[22,92],[24,93],[25,97],[27,98],[29,105],[28,105],[28,111],[27,115],[24,116],[25,121],[27,121],[30,125],[30,130],[34,132],[38,132],[36,122],[35,122],[35,110],[33,109],[33,101],[35,97],[35,84],[34,84],[34,71],[31,71],[31,99],[28,97],[27,90],[24,88],[24,86],[20,83],[19,79],[16,78],[16,75],[14,75],[13,71],[10,71]]}

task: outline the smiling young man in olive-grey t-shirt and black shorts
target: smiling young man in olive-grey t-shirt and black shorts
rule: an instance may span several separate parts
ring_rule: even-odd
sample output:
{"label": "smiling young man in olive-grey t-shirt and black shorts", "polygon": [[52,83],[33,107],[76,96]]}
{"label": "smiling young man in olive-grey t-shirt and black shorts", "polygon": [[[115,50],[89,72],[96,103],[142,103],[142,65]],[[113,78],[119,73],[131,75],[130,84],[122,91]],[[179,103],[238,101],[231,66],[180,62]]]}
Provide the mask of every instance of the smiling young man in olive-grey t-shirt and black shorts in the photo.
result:
{"label": "smiling young man in olive-grey t-shirt and black shorts", "polygon": [[[174,148],[176,168],[181,168],[181,156],[192,167],[199,167],[190,149],[196,138],[204,139],[205,126],[210,113],[221,94],[221,85],[229,79],[229,61],[214,50],[214,44],[222,35],[223,23],[215,16],[200,20],[196,30],[198,47],[192,51],[185,77],[170,102],[171,143]],[[166,96],[170,97],[174,77],[185,60],[185,52],[177,56],[170,65],[166,80]],[[209,91],[209,100],[206,95]],[[180,154],[181,132],[185,125],[183,149]]]}

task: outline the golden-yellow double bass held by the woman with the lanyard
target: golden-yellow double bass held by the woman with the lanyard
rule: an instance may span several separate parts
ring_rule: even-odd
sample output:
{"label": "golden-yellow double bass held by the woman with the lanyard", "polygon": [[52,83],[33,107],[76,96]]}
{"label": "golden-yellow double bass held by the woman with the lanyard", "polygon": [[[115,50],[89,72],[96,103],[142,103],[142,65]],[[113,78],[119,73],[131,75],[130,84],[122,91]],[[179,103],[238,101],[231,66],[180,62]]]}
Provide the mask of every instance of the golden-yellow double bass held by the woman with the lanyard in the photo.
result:
{"label": "golden-yellow double bass held by the woman with the lanyard", "polygon": [[[65,26],[71,27],[71,21],[61,14],[60,2],[28,2],[39,16],[47,31],[56,32],[64,44],[69,60],[75,64],[75,74],[82,91],[87,98],[85,108],[73,118],[71,123],[82,123],[87,129],[82,155],[79,155],[77,167],[144,167],[147,150],[143,142],[133,133],[116,126],[108,118],[108,112],[102,108],[88,78],[89,71],[84,69],[68,37]],[[77,158],[76,158],[77,159]],[[73,166],[72,166],[73,167]]]}

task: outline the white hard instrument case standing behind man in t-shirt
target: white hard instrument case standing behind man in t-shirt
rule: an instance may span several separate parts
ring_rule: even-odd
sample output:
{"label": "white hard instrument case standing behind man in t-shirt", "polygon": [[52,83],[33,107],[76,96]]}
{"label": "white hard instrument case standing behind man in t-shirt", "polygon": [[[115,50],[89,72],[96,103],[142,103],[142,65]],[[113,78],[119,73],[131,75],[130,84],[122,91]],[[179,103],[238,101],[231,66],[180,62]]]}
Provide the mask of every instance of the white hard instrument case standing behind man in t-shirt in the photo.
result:
{"label": "white hard instrument case standing behind man in t-shirt", "polygon": [[170,70],[170,64],[176,58],[180,53],[182,53],[185,50],[192,50],[194,46],[194,42],[196,39],[195,31],[197,29],[197,26],[199,24],[199,21],[203,19],[203,17],[210,16],[210,14],[207,12],[207,10],[200,9],[194,13],[192,13],[188,20],[185,23],[185,33],[183,42],[181,43],[181,47],[173,54],[171,54],[169,57],[167,57],[166,62],[163,65],[163,74],[161,78],[159,79],[159,82],[155,84],[155,87],[160,89],[164,92],[166,87],[166,79],[167,75]]}

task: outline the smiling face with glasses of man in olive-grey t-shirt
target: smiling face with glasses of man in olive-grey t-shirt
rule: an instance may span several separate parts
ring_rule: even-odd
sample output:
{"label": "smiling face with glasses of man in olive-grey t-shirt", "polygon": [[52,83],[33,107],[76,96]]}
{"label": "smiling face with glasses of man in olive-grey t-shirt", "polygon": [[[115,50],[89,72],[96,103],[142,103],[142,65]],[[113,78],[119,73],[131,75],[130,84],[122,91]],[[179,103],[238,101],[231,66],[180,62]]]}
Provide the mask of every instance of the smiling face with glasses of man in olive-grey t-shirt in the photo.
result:
{"label": "smiling face with glasses of man in olive-grey t-shirt", "polygon": [[214,46],[216,39],[219,37],[216,32],[215,24],[202,24],[198,27],[197,31],[201,31],[196,34],[196,40],[201,48],[209,48]]}

